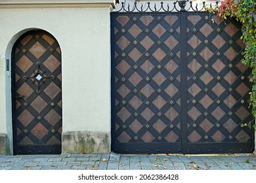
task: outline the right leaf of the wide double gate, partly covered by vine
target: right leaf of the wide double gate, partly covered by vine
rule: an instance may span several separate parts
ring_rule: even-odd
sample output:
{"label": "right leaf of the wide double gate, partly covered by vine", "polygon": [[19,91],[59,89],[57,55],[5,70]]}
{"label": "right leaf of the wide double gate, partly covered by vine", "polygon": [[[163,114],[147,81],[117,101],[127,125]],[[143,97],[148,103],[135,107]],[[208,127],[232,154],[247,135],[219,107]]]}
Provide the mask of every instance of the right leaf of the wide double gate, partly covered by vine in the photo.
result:
{"label": "right leaf of the wide double gate, partly covered by vine", "polygon": [[188,13],[188,152],[252,150],[251,70],[241,62],[240,27],[207,13]]}

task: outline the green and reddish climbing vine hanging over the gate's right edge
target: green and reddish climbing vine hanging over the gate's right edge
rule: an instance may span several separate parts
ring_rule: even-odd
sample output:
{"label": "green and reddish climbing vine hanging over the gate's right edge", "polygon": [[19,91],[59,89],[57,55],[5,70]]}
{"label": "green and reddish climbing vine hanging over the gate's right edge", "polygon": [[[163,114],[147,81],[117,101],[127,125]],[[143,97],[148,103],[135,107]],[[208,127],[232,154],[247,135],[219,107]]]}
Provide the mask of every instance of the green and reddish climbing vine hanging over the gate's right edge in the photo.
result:
{"label": "green and reddish climbing vine hanging over the gate's right edge", "polygon": [[[251,67],[250,82],[253,83],[251,98],[252,114],[256,118],[256,2],[255,0],[224,0],[219,7],[205,8],[209,12],[217,14],[224,20],[236,18],[242,22],[242,37],[245,43],[244,59],[242,62]],[[256,124],[253,125],[256,129]]]}

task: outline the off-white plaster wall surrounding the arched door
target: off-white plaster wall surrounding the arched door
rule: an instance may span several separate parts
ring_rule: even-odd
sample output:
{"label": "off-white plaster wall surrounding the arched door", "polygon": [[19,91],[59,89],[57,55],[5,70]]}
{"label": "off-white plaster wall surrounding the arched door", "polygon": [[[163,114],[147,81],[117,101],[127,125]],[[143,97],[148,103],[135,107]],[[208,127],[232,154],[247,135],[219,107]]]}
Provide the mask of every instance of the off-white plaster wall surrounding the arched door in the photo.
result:
{"label": "off-white plaster wall surrounding the arched door", "polygon": [[20,31],[36,28],[51,33],[62,50],[63,133],[110,134],[110,1],[104,3],[95,8],[0,7],[0,133],[8,134],[12,122],[5,58]]}

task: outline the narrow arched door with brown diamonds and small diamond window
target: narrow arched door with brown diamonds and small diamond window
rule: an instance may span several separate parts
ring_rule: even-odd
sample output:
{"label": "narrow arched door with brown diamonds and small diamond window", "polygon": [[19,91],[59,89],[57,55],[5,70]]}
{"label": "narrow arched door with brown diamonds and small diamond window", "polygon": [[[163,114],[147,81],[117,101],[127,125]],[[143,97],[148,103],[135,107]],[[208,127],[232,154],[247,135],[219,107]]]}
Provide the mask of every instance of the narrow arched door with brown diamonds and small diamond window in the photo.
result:
{"label": "narrow arched door with brown diamonds and small diamond window", "polygon": [[12,48],[14,154],[60,154],[61,51],[43,30],[24,33]]}

